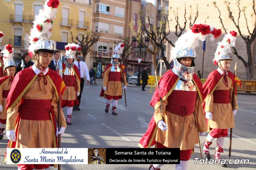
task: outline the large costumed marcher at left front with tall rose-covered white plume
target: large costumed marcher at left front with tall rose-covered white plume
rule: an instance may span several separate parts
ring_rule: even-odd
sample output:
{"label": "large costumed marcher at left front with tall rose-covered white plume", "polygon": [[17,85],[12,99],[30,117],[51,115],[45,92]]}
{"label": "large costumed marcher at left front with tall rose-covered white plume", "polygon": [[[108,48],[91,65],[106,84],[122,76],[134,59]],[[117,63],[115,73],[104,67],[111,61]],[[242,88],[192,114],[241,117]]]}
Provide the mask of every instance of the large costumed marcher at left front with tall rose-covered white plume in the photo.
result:
{"label": "large costumed marcher at left front with tall rose-covered white plume", "polygon": [[[57,136],[64,134],[66,128],[62,111],[61,128],[56,127],[60,107],[58,100],[66,86],[61,76],[48,68],[56,50],[56,42],[47,40],[52,25],[51,22],[44,22],[52,20],[57,10],[49,0],[46,0],[43,9],[30,32],[29,54],[35,64],[16,74],[7,97],[8,148],[56,148]],[[18,164],[20,170],[44,169],[49,166]]]}

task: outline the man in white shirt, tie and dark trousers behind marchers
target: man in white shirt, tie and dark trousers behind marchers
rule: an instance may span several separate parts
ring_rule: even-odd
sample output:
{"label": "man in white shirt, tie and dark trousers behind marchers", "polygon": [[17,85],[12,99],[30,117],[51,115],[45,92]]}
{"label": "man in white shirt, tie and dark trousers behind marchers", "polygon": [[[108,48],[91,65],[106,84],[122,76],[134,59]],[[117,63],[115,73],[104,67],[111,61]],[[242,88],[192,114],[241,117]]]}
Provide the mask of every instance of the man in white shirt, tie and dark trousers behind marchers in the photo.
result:
{"label": "man in white shirt, tie and dark trousers behind marchers", "polygon": [[86,77],[87,84],[89,84],[89,79],[90,79],[88,67],[86,63],[82,61],[82,58],[83,57],[81,53],[76,53],[76,61],[74,62],[74,64],[76,64],[76,66],[78,67],[80,77],[81,77],[81,82],[80,82],[80,95],[78,96],[79,105],[74,106],[73,111],[81,110],[79,106],[81,103],[81,96],[84,88],[84,77]]}

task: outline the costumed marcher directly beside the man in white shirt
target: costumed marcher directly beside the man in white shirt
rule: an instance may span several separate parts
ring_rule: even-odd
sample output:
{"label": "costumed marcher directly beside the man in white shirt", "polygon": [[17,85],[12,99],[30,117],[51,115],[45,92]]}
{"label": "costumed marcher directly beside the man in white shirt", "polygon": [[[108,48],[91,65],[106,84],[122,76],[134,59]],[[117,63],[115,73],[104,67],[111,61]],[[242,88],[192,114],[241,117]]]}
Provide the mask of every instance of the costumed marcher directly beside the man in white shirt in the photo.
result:
{"label": "costumed marcher directly beside the man in white shirt", "polygon": [[66,55],[65,61],[62,63],[63,81],[67,86],[62,95],[62,107],[67,107],[67,125],[72,125],[70,119],[72,118],[73,107],[79,104],[78,96],[80,94],[80,74],[78,67],[74,64],[75,53],[79,45],[75,43],[68,43],[65,46]]}

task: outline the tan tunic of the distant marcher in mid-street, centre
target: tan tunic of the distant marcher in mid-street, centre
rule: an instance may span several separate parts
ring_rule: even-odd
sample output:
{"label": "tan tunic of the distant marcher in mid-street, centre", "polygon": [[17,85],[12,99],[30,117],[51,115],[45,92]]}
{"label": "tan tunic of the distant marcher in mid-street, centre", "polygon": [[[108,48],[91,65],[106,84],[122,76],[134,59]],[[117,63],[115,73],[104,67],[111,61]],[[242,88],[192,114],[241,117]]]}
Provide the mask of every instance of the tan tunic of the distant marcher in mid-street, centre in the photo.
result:
{"label": "tan tunic of the distant marcher in mid-street, centre", "polygon": [[[111,66],[112,67],[112,66]],[[108,80],[108,74],[111,71],[111,67],[106,70],[103,77],[103,87],[106,87],[105,94],[109,96],[122,96],[123,90],[122,90],[122,82],[124,82],[124,86],[127,86],[126,82],[126,76],[123,74],[122,68],[120,68],[121,72],[121,82],[120,81],[109,81]]]}

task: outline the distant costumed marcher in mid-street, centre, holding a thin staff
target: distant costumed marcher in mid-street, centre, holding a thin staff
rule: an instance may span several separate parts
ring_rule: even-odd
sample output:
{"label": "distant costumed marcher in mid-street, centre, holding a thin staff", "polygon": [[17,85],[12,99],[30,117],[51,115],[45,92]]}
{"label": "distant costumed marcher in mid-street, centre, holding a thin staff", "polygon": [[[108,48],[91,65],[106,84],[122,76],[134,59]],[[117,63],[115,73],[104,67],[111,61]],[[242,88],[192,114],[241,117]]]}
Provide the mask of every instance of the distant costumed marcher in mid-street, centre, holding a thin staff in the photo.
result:
{"label": "distant costumed marcher in mid-street, centre, holding a thin staff", "polygon": [[112,55],[111,64],[106,66],[103,73],[103,87],[100,93],[101,97],[106,98],[105,112],[108,113],[110,102],[112,101],[112,114],[117,115],[116,107],[118,100],[122,98],[122,82],[126,90],[126,74],[124,68],[120,65],[120,55],[124,48],[123,43],[119,43]]}

